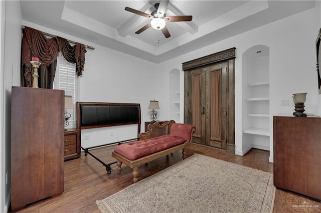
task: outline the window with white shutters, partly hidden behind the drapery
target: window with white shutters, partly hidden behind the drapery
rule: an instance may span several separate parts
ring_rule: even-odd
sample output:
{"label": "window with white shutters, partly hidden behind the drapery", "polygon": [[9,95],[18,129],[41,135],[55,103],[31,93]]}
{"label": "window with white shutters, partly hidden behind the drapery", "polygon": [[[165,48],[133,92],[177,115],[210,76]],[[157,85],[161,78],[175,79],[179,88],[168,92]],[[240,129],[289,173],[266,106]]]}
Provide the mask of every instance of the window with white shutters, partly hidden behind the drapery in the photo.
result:
{"label": "window with white shutters, partly hidden behind the drapery", "polygon": [[[72,102],[75,104],[77,102],[77,75],[76,75],[76,63],[69,63],[62,55],[59,53],[57,57],[57,67],[54,79],[54,88],[65,90],[65,95],[72,96]],[[66,109],[65,109],[66,110]],[[68,108],[67,112],[71,114],[68,122],[67,128],[76,127],[76,110],[75,108]]]}

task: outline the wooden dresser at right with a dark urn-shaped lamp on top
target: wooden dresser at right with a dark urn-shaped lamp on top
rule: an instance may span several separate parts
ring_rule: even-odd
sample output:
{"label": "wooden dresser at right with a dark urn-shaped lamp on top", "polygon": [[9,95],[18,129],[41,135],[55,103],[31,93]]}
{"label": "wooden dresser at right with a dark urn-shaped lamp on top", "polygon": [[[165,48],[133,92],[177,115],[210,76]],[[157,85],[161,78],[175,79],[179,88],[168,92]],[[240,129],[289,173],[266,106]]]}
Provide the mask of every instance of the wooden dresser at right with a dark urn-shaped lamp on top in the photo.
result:
{"label": "wooden dresser at right with a dark urn-shaped lamp on top", "polygon": [[273,117],[276,187],[321,200],[321,118]]}

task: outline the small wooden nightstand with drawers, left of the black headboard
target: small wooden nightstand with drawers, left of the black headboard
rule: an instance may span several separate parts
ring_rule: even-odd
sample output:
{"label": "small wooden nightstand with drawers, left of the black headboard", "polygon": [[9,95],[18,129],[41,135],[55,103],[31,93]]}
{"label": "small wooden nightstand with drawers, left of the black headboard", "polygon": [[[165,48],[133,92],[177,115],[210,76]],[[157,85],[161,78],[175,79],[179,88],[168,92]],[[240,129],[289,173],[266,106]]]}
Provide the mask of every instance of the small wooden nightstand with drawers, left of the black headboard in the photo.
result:
{"label": "small wooden nightstand with drawers, left of the black headboard", "polygon": [[65,160],[80,157],[80,130],[76,128],[68,128],[65,131],[64,141]]}

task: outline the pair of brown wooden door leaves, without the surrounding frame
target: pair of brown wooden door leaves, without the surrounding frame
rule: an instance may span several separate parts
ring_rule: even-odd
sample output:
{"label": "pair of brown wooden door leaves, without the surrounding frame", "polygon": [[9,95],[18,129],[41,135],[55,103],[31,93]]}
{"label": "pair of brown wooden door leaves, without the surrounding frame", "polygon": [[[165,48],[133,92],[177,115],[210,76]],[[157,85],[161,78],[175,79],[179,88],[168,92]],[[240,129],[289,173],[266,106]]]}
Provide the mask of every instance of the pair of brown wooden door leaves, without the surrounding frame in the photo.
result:
{"label": "pair of brown wooden door leaves, without the surrounding frame", "polygon": [[226,149],[227,62],[190,71],[193,142]]}

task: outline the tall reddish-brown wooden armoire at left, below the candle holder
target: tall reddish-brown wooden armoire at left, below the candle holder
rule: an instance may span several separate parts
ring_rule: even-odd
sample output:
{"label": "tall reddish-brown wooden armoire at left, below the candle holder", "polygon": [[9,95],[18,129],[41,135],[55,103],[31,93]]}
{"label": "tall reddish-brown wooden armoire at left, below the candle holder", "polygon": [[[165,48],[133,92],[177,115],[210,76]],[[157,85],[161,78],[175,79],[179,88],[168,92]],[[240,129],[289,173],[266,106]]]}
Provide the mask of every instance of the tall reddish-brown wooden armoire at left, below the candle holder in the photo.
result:
{"label": "tall reddish-brown wooden armoire at left, below the candle holder", "polygon": [[12,87],[12,209],[64,191],[64,91]]}

